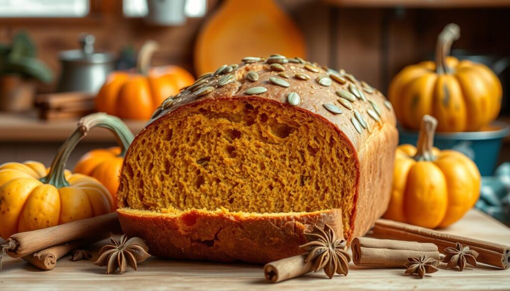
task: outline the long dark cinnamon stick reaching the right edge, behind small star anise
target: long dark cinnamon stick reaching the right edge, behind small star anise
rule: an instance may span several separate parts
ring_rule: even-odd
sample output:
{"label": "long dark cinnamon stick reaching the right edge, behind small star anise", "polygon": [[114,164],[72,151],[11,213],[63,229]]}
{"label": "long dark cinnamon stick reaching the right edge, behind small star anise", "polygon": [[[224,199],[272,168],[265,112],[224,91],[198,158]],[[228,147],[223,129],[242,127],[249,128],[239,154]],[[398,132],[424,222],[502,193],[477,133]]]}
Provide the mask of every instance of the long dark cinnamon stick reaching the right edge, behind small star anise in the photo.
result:
{"label": "long dark cinnamon stick reaching the right edge, behind small star anise", "polygon": [[478,252],[479,255],[476,258],[478,262],[502,269],[510,268],[510,247],[501,244],[386,219],[379,219],[375,222],[373,235],[382,239],[432,243],[438,246],[441,253],[448,247],[455,247],[458,242]]}

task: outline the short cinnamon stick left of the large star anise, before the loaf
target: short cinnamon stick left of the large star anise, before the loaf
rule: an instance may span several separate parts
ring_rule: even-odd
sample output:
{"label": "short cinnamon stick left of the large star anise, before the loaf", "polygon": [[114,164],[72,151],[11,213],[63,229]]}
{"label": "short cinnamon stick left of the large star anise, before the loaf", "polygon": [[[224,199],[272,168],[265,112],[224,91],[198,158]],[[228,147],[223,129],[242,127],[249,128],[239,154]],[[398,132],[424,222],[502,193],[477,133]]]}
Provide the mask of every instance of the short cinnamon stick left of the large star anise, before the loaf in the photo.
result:
{"label": "short cinnamon stick left of the large star anise, before the loaf", "polygon": [[271,283],[278,283],[310,273],[314,270],[314,263],[305,262],[306,258],[307,254],[303,254],[267,263],[264,266],[264,276]]}

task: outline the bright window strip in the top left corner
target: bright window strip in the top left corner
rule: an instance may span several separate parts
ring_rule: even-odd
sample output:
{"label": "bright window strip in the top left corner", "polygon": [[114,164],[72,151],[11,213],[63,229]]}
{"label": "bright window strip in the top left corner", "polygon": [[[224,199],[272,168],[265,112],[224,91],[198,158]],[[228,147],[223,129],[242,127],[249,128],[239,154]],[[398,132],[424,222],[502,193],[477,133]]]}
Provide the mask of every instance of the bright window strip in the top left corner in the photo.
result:
{"label": "bright window strip in the top left corner", "polygon": [[89,0],[0,0],[0,17],[84,17]]}

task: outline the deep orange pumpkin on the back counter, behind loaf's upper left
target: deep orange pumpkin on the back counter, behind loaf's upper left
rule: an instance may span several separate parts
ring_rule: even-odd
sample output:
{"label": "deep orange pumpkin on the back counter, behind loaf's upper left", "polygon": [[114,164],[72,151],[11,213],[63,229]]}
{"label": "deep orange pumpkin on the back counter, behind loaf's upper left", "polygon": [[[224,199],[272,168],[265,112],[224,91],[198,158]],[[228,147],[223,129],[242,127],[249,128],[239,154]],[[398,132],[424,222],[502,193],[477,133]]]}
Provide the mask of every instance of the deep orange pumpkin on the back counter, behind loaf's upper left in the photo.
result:
{"label": "deep orange pumpkin on the back counter, behind loaf's upper left", "polygon": [[135,73],[111,73],[95,98],[96,109],[121,118],[148,120],[152,112],[170,95],[193,84],[195,79],[184,68],[149,68],[157,43],[146,42],[138,54]]}

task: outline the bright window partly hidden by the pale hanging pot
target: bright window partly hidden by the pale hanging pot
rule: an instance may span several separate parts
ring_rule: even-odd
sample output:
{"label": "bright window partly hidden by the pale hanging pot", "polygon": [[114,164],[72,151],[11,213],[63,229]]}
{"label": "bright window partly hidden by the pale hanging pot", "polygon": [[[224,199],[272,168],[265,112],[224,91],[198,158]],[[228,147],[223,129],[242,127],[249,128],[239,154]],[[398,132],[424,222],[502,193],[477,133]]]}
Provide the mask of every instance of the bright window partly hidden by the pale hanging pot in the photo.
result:
{"label": "bright window partly hidden by the pale hanging pot", "polygon": [[[202,17],[206,15],[207,0],[185,1],[184,14],[186,17]],[[143,17],[148,13],[147,0],[123,0],[122,10],[126,17]]]}

